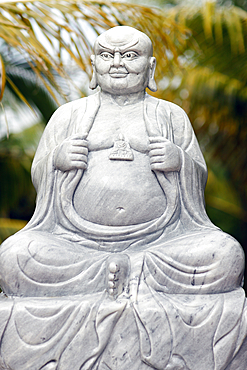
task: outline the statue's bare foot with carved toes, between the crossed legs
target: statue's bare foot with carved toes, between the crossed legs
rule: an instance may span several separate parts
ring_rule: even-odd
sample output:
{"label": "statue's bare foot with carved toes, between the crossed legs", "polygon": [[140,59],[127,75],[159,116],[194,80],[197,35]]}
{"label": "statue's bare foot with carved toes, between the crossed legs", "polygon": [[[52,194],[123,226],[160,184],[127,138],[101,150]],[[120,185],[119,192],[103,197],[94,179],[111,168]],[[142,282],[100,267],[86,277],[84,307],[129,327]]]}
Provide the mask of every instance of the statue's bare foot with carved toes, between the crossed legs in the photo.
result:
{"label": "statue's bare foot with carved toes, between the crossed legs", "polygon": [[107,290],[109,296],[117,299],[128,287],[128,256],[125,254],[118,254],[109,258],[107,274]]}

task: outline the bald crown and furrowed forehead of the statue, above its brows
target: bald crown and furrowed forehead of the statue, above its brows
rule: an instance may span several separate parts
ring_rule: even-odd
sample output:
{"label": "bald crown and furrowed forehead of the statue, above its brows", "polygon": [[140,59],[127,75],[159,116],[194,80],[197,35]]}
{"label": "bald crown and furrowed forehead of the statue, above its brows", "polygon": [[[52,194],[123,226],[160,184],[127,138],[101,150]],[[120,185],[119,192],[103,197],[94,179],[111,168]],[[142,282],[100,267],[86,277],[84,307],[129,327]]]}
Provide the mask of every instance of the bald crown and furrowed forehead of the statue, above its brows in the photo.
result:
{"label": "bald crown and furrowed forehead of the statue, above its brows", "polygon": [[97,54],[99,48],[112,49],[119,48],[125,51],[130,47],[136,46],[143,50],[148,56],[153,55],[153,46],[150,38],[143,32],[128,26],[117,26],[102,33],[95,41],[94,52]]}

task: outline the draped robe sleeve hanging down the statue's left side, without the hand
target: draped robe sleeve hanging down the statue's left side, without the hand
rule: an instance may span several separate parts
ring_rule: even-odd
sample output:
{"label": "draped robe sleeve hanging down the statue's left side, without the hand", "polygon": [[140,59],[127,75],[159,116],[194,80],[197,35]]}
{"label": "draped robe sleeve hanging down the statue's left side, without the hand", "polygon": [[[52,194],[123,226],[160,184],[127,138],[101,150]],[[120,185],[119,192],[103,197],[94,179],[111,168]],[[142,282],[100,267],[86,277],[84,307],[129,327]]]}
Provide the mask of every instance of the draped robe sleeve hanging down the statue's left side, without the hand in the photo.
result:
{"label": "draped robe sleeve hanging down the statue's left side, without the hand", "polygon": [[44,130],[31,169],[37,191],[36,209],[25,230],[41,228],[52,231],[54,228],[54,189],[57,176],[62,175],[54,167],[54,154],[61,142],[77,132],[78,112],[83,113],[83,106],[83,99],[62,105]]}

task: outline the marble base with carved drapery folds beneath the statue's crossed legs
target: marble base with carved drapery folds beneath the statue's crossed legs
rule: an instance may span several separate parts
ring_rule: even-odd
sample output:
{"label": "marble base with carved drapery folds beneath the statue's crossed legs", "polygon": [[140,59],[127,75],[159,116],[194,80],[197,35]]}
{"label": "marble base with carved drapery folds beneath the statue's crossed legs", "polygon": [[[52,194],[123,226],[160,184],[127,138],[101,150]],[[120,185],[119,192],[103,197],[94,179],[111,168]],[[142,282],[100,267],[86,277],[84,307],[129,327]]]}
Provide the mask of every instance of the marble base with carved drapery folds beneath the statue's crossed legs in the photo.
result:
{"label": "marble base with carved drapery folds beneath the statue's crossed legs", "polygon": [[246,334],[242,288],[0,297],[1,370],[245,370]]}

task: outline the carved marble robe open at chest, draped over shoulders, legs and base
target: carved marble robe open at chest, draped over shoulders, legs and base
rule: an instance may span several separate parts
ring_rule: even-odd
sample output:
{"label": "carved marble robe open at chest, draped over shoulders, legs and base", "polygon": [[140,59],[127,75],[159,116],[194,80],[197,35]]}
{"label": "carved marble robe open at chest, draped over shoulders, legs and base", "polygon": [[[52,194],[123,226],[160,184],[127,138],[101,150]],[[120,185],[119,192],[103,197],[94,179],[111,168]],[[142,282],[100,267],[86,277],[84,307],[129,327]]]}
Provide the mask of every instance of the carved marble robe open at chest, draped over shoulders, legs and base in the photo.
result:
{"label": "carved marble robe open at chest, draped over shoulders, legs and base", "polygon": [[[84,171],[54,166],[58,145],[88,133],[99,107],[99,93],[63,105],[40,141],[32,166],[35,213],[0,249],[0,284],[13,296],[3,361],[24,370],[27,351],[32,370],[46,364],[61,370],[226,369],[246,338],[244,257],[239,243],[205,212],[207,170],[189,119],[175,104],[145,96],[147,133],[178,147],[181,170],[155,171],[166,197],[160,217],[130,226],[99,225],[74,207]],[[128,269],[126,289],[116,301],[106,288],[114,255],[124,255]],[[230,315],[232,300],[237,305]],[[23,318],[35,335],[23,327]],[[44,335],[37,337],[41,328]],[[25,348],[19,357],[8,350],[11,340]]]}

